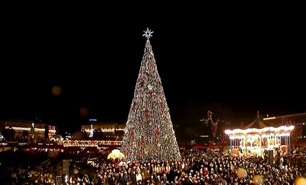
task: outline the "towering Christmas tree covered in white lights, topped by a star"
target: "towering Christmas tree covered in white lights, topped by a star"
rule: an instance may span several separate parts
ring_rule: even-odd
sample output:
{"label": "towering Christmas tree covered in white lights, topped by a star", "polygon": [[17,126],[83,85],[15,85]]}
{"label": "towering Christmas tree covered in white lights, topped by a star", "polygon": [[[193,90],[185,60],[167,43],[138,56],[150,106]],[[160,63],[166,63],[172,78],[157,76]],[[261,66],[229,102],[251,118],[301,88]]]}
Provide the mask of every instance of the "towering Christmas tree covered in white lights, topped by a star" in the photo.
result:
{"label": "towering Christmas tree covered in white lights, topped by a star", "polygon": [[134,98],[121,149],[126,160],[177,160],[180,153],[147,29]]}

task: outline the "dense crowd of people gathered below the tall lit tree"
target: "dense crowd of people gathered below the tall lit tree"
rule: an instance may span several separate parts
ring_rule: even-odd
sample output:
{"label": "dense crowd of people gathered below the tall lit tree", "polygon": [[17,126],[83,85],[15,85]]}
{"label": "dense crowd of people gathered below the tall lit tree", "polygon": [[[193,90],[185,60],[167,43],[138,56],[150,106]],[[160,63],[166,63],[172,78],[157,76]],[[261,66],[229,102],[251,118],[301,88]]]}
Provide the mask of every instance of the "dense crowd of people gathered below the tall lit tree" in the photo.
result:
{"label": "dense crowd of people gathered below the tall lit tree", "polygon": [[[1,158],[4,155],[24,156],[16,152],[3,152],[0,155]],[[46,155],[49,159],[40,164],[22,162],[22,159],[22,164],[1,164],[0,181],[1,184],[12,185],[55,185],[60,183],[56,176],[62,176],[59,181],[69,185],[293,185],[297,179],[306,176],[304,154],[277,155],[273,165],[268,163],[267,155],[246,158],[225,156],[219,152],[208,154],[193,151],[182,153],[181,156],[180,160],[175,161],[116,163],[107,160],[107,155],[97,153],[58,154],[51,158],[49,153]],[[62,159],[70,159],[66,183],[65,175],[62,175]]]}

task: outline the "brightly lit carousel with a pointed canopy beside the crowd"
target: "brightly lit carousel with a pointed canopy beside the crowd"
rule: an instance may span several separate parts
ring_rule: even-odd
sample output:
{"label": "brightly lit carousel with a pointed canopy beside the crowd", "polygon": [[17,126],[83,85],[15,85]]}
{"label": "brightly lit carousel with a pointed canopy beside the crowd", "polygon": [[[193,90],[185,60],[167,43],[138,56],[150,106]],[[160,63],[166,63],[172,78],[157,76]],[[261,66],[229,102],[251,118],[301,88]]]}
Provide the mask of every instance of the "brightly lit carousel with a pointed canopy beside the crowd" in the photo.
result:
{"label": "brightly lit carousel with a pointed canopy beside the crowd", "polygon": [[231,154],[239,156],[263,156],[268,150],[286,154],[290,151],[290,132],[294,126],[276,126],[259,118],[243,129],[226,130],[230,138]]}

